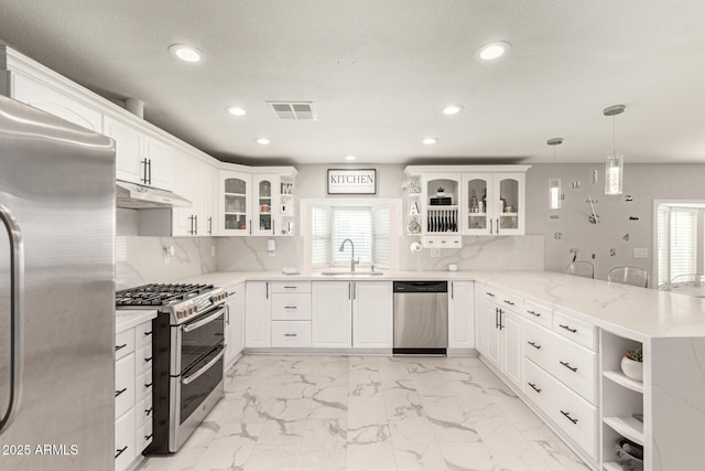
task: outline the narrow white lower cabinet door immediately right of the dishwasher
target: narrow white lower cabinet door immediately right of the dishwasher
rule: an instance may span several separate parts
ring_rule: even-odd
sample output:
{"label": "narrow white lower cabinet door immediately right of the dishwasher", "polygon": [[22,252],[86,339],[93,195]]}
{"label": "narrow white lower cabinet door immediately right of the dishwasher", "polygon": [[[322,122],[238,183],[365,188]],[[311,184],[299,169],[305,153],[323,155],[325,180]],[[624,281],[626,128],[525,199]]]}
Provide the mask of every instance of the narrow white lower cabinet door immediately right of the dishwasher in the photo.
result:
{"label": "narrow white lower cabinet door immediately right of the dishwasher", "polygon": [[448,349],[474,349],[474,283],[451,281],[448,285]]}

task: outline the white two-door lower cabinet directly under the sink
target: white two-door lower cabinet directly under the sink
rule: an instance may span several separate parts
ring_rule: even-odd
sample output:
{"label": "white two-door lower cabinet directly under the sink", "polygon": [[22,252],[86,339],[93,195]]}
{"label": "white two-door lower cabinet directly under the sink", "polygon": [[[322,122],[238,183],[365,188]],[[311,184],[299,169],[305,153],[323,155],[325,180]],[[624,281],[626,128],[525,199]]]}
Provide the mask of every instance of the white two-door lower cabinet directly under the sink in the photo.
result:
{"label": "white two-door lower cabinet directly under the sink", "polygon": [[314,281],[312,345],[317,347],[391,349],[391,281]]}

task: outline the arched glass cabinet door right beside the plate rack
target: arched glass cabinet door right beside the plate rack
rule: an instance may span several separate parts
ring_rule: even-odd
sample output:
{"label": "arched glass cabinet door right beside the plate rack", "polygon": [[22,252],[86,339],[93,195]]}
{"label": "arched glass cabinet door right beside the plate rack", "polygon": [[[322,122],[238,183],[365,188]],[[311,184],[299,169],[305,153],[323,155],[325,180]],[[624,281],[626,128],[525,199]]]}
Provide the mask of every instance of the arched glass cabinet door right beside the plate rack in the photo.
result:
{"label": "arched glass cabinet door right beside the plate rack", "polygon": [[491,208],[492,173],[464,174],[463,182],[465,197],[463,202],[463,234],[490,234],[490,223],[495,224]]}

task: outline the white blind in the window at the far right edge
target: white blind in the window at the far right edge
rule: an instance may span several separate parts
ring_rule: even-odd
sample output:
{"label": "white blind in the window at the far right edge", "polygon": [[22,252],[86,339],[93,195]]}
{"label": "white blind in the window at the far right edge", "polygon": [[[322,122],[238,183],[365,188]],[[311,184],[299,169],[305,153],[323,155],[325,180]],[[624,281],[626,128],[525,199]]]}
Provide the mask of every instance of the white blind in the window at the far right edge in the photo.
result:
{"label": "white blind in the window at the far right edge", "polygon": [[695,274],[697,264],[697,210],[672,208],[670,224],[670,279]]}

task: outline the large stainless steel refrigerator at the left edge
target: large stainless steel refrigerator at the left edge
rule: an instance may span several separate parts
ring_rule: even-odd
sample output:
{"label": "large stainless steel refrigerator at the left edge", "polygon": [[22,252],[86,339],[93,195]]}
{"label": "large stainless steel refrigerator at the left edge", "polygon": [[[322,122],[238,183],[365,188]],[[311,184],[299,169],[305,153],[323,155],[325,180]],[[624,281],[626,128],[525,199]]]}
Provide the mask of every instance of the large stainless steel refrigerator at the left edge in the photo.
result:
{"label": "large stainless steel refrigerator at the left edge", "polygon": [[115,143],[0,96],[0,469],[112,470]]}

